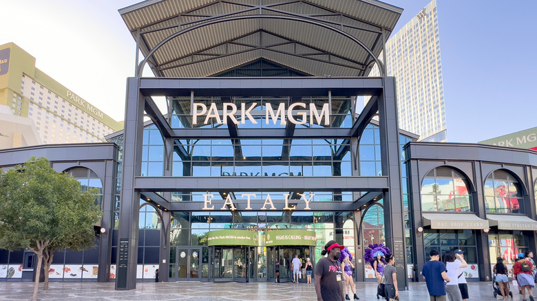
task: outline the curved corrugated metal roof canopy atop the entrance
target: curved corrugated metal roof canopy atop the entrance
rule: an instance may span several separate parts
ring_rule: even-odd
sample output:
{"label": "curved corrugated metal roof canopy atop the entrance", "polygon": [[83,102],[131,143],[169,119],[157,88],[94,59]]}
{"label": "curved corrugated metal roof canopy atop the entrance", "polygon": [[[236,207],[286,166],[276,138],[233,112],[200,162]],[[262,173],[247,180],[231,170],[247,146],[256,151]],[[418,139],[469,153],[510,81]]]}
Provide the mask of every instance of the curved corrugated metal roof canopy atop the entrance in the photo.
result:
{"label": "curved corrugated metal roof canopy atop the entrance", "polygon": [[119,10],[159,77],[264,59],[310,76],[366,76],[401,8],[376,0],[147,0]]}

